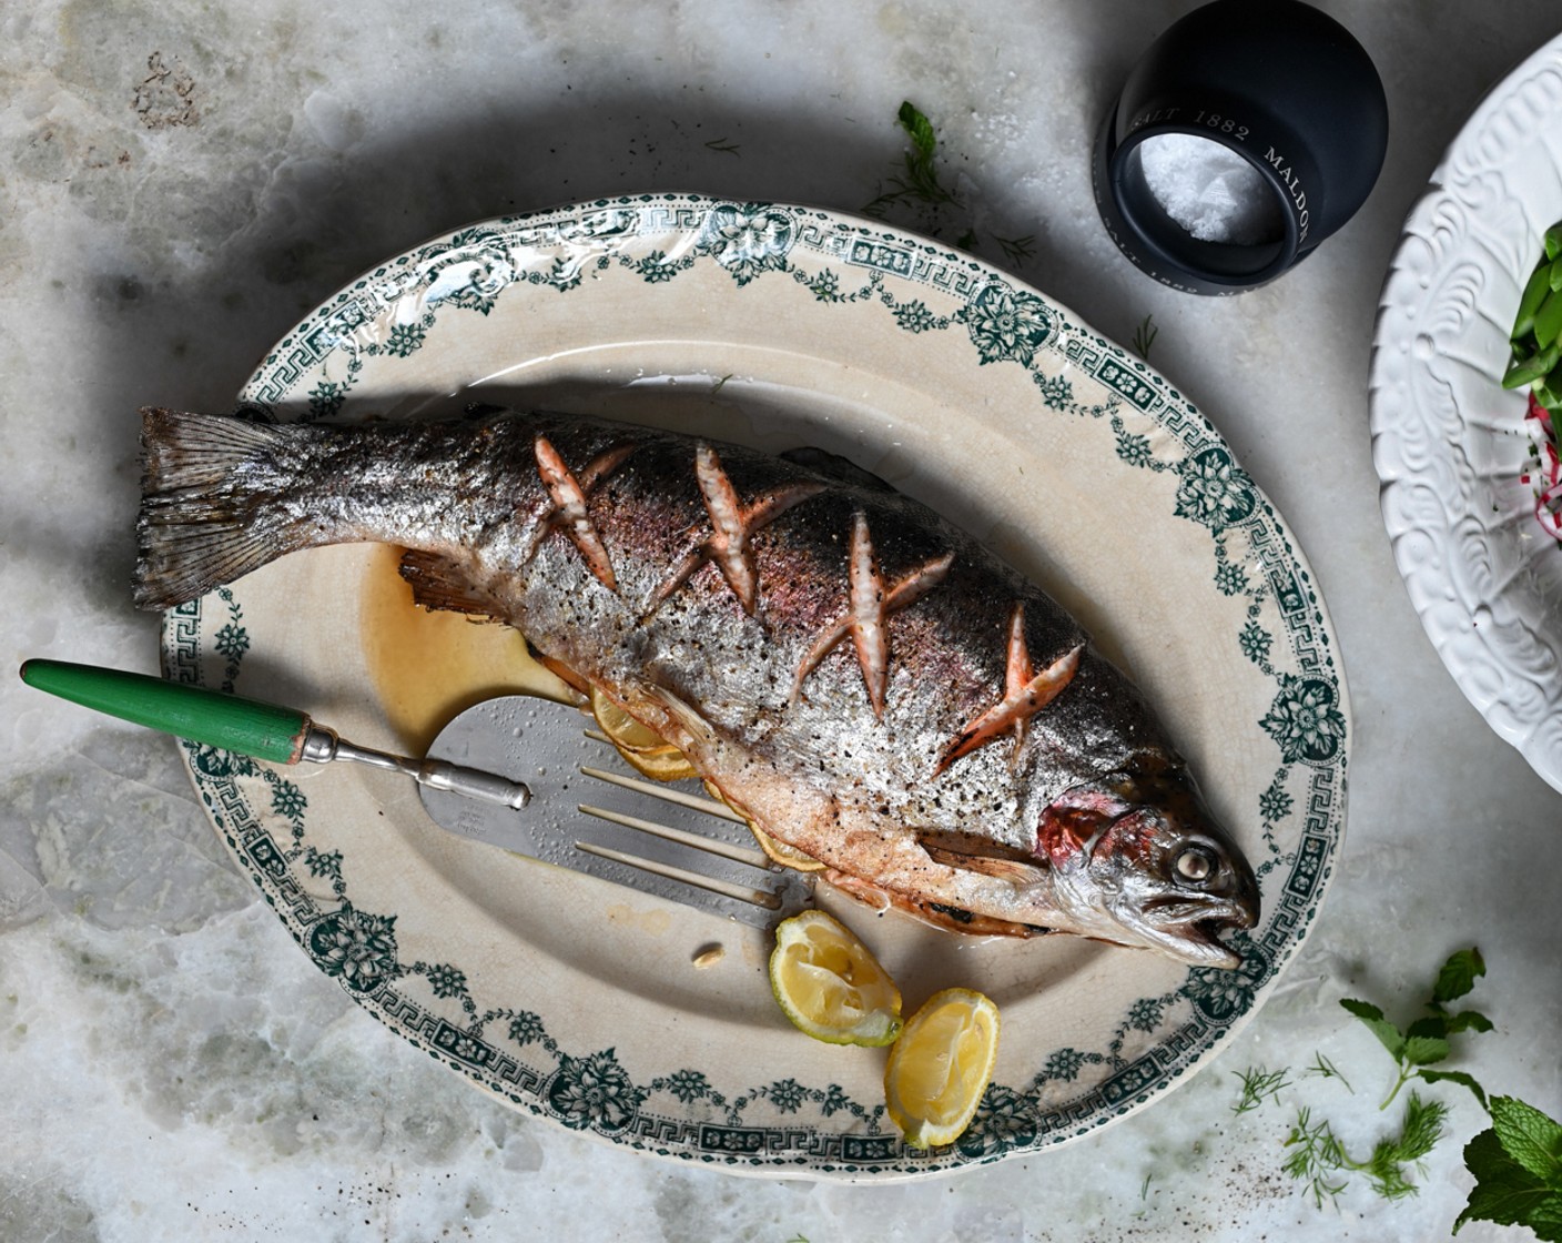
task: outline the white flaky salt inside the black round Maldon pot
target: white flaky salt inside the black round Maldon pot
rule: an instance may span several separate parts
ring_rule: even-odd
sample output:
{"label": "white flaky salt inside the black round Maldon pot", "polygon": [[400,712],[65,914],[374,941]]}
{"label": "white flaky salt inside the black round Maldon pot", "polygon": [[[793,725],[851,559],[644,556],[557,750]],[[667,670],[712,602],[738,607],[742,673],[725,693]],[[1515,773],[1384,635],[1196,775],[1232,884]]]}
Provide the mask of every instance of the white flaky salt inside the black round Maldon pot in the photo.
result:
{"label": "white flaky salt inside the black round Maldon pot", "polygon": [[1156,202],[1201,242],[1262,245],[1286,227],[1273,188],[1246,159],[1196,134],[1154,134],[1139,166]]}

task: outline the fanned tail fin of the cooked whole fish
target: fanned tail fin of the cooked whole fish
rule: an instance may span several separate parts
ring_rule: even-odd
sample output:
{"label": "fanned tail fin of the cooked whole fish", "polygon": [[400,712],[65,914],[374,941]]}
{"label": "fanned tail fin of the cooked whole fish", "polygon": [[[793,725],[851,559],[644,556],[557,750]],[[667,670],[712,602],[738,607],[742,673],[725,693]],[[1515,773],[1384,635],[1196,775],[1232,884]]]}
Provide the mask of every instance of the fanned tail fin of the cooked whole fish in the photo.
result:
{"label": "fanned tail fin of the cooked whole fish", "polygon": [[281,514],[267,516],[247,475],[286,461],[276,450],[297,427],[150,407],[141,419],[137,608],[184,604],[289,550]]}

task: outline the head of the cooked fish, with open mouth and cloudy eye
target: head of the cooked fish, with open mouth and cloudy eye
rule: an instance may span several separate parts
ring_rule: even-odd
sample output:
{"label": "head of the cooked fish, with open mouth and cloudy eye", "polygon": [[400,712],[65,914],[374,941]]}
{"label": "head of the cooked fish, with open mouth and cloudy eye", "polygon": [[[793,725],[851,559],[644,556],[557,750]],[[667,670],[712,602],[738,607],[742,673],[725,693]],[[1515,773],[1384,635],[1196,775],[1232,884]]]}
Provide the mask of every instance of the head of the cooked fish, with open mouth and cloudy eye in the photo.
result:
{"label": "head of the cooked fish, with open mouth and cloudy eye", "polygon": [[1075,930],[1195,966],[1242,963],[1220,933],[1257,924],[1257,877],[1186,772],[1070,786],[1042,813],[1037,852]]}

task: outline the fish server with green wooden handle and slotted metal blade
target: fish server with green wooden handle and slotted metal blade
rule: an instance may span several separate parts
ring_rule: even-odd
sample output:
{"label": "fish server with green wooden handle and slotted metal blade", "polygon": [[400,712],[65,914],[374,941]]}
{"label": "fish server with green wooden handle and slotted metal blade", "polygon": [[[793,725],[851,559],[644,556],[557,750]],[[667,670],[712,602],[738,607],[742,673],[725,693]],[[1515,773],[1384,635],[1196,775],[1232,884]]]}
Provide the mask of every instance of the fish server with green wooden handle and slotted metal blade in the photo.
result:
{"label": "fish server with green wooden handle and slotted metal blade", "polygon": [[772,927],[811,883],[776,868],[742,816],[695,783],[645,782],[570,704],[501,696],[467,708],[423,760],[361,747],[284,708],[145,674],[30,660],[22,680],[137,725],[270,763],[355,760],[412,777],[434,824],[458,836]]}

